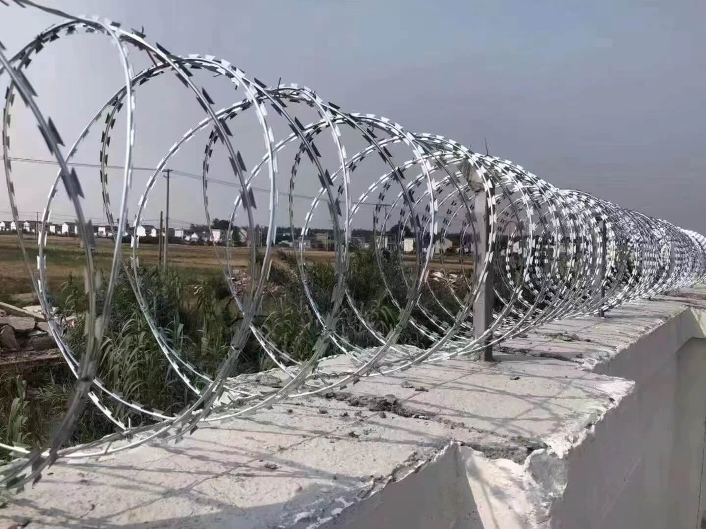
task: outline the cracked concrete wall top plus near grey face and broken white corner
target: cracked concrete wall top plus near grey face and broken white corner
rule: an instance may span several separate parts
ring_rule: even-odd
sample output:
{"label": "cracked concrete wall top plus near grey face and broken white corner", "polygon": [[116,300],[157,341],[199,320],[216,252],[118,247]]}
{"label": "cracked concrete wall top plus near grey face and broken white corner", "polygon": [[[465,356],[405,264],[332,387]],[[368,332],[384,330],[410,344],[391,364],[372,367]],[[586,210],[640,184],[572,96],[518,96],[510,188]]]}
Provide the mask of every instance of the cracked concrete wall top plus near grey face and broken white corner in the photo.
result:
{"label": "cracked concrete wall top plus near grey face and broken white corner", "polygon": [[[626,363],[647,341],[702,336],[699,303],[553,322],[503,343],[497,363],[414,367],[177,445],[61,462],[0,509],[0,528],[549,528],[573,452],[642,376]],[[265,389],[275,375],[251,378]]]}

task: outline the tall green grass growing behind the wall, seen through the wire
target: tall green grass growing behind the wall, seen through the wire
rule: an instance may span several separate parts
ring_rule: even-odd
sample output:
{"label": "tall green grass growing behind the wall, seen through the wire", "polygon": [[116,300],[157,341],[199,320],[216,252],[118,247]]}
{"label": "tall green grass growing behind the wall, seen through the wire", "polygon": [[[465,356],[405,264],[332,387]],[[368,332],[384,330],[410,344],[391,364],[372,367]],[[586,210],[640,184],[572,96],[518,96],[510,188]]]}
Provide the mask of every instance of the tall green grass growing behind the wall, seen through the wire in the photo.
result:
{"label": "tall green grass growing behind the wall, seen through the wire", "polygon": [[[55,255],[64,255],[56,252]],[[58,257],[57,257],[58,258]],[[384,262],[383,272],[396,296],[405,304],[406,287],[399,264]],[[319,310],[325,314],[333,305],[331,293],[335,271],[328,262],[306,263],[311,292]],[[155,324],[169,346],[198,370],[213,377],[229,351],[229,344],[242,315],[230,296],[219,269],[203,274],[202,269],[162,269],[142,267],[139,270],[143,296]],[[399,310],[383,286],[383,276],[371,252],[352,256],[348,287],[357,309],[366,321],[383,336],[397,323]],[[107,281],[101,281],[105,288]],[[301,276],[293,255],[277,255],[268,280],[275,293],[265,296],[256,324],[282,351],[296,360],[311,357],[320,334],[309,302],[301,288]],[[100,292],[98,306],[102,305]],[[83,277],[73,273],[61,284],[53,300],[59,314],[73,315],[77,323],[66,333],[66,341],[75,355],[85,347],[84,312],[87,300]],[[423,317],[416,314],[417,317]],[[357,346],[376,345],[369,331],[348,306],[340,312],[337,331]],[[429,341],[412,326],[402,334],[400,343],[419,347]],[[334,353],[329,346],[325,354]],[[194,398],[172,370],[152,336],[140,310],[130,283],[121,272],[112,300],[112,316],[100,348],[97,376],[104,384],[122,394],[128,401],[138,401],[166,413],[177,413]],[[239,355],[237,373],[258,372],[273,367],[271,360],[252,337]],[[65,366],[42,369],[25,374],[0,377],[0,438],[38,446],[47,439],[54,423],[64,412],[73,388],[73,377]],[[149,420],[130,408],[112,407],[114,415],[139,425]],[[112,432],[112,424],[102,413],[88,404],[80,418],[71,443],[88,442]]]}

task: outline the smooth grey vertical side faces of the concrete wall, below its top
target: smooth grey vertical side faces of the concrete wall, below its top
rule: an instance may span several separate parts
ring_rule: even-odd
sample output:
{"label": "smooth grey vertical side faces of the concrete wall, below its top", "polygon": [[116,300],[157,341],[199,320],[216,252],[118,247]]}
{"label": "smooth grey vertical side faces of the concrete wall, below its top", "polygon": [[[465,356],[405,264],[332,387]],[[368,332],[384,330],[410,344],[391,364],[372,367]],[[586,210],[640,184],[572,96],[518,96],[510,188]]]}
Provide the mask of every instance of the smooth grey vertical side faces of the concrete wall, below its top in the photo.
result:
{"label": "smooth grey vertical side faces of the concrete wall, below its top", "polygon": [[[675,333],[662,329],[670,339]],[[646,358],[634,369],[622,362],[609,369],[642,379],[565,458],[537,451],[522,468],[454,445],[330,527],[700,529],[706,340],[652,352],[648,372]],[[544,516],[532,520],[530,511],[547,499]]]}

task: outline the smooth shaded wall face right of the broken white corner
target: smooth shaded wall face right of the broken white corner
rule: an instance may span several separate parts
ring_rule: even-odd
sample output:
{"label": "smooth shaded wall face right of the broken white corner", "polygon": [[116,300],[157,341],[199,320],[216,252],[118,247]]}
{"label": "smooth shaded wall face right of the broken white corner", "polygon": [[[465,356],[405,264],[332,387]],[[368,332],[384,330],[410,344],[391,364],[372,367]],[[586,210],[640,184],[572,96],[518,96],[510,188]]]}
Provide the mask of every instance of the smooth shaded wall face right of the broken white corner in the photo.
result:
{"label": "smooth shaded wall face right of the broken white corner", "polygon": [[568,457],[551,528],[700,528],[706,340],[662,358]]}

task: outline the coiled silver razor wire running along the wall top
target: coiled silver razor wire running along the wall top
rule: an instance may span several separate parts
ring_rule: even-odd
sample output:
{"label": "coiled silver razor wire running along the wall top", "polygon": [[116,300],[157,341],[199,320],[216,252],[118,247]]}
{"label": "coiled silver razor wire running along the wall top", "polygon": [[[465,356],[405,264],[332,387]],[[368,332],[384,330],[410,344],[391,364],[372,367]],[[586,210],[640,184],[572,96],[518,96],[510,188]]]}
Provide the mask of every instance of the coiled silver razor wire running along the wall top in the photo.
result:
{"label": "coiled silver razor wire running along the wall top", "polygon": [[[0,0],[5,4],[3,0]],[[49,330],[76,376],[76,387],[55,433],[41,449],[29,451],[20,446],[0,444],[18,459],[1,470],[5,485],[22,487],[36,482],[42,471],[56,458],[112,454],[133,446],[161,440],[178,441],[203,422],[223,420],[254,413],[285,397],[297,397],[345,387],[361,377],[405,370],[419,363],[438,362],[479,351],[485,343],[498,343],[527,329],[557,318],[590,315],[621,303],[688,286],[706,278],[706,239],[698,233],[678,228],[667,221],[623,209],[606,200],[578,190],[559,189],[534,176],[517,164],[488,154],[472,152],[463,145],[439,135],[417,134],[388,118],[373,114],[350,114],[326,102],[314,90],[278,83],[268,87],[249,77],[228,61],[214,56],[190,54],[177,56],[160,44],[150,44],[143,30],[126,30],[119,23],[98,17],[70,16],[32,1],[16,0],[23,7],[42,9],[59,17],[56,25],[37,35],[13,56],[0,46],[0,76],[6,82],[2,122],[4,172],[13,219],[19,222],[16,190],[11,165],[11,116],[16,95],[33,114],[46,140],[47,148],[59,164],[49,190],[38,233],[38,257],[30,262],[29,250],[21,232],[19,246],[35,291],[47,315]],[[109,39],[124,76],[124,84],[98,109],[95,117],[71,147],[64,142],[52,118],[42,114],[37,92],[25,72],[37,54],[51,53],[54,42],[67,38]],[[135,73],[130,52],[147,54],[152,61]],[[184,357],[174,342],[155,321],[144,295],[140,276],[139,237],[133,237],[131,251],[123,253],[121,237],[126,231],[129,190],[132,186],[133,147],[136,141],[134,118],[136,92],[145,83],[173,75],[203,109],[203,118],[189,129],[155,167],[136,204],[134,224],[143,222],[148,197],[161,171],[187,142],[201,136],[203,154],[203,205],[210,226],[209,168],[215,157],[227,159],[236,186],[230,224],[247,227],[249,233],[249,276],[245,292],[238,292],[233,281],[232,248],[227,242],[221,265],[230,295],[242,318],[229,344],[220,369],[209,376]],[[199,80],[213,78],[229,83],[233,104],[217,108]],[[303,124],[299,116],[316,116]],[[259,162],[248,169],[246,157],[236,147],[231,128],[242,116],[254,116],[263,139]],[[111,196],[108,186],[108,159],[116,121],[124,121],[124,170],[120,193]],[[275,138],[273,123],[287,133]],[[100,132],[100,184],[104,214],[114,233],[112,265],[104,291],[91,248],[93,227],[83,212],[84,196],[76,169],[69,165],[89,133]],[[256,132],[256,130],[251,130]],[[146,140],[145,140],[146,141]],[[119,143],[119,142],[115,142]],[[349,152],[346,145],[356,145]],[[281,171],[285,158],[289,166]],[[293,153],[293,156],[292,156]],[[374,163],[373,163],[374,162]],[[376,177],[358,198],[352,189],[371,174]],[[362,169],[364,168],[364,169]],[[257,177],[269,183],[268,202],[256,203],[253,186]],[[318,188],[303,218],[294,207],[295,188],[309,183]],[[367,182],[366,182],[367,183]],[[78,236],[85,250],[85,348],[76,351],[64,339],[61,320],[53,312],[47,286],[46,241],[48,224],[56,193],[64,188],[78,219]],[[306,187],[305,187],[306,188]],[[282,206],[278,198],[288,190],[289,200]],[[476,200],[478,196],[484,200]],[[362,205],[373,204],[373,209]],[[267,208],[265,237],[258,237],[255,213]],[[309,360],[292,358],[256,323],[263,291],[273,261],[275,218],[285,207],[292,226],[297,266],[311,311],[318,324],[318,339]],[[335,279],[330,300],[311,291],[305,266],[305,239],[312,229],[314,212],[323,207],[330,221],[335,260]],[[484,207],[489,219],[488,247],[479,248],[476,207]],[[131,211],[133,210],[132,208]],[[395,305],[395,322],[381,332],[360,310],[349,291],[348,273],[352,259],[354,222],[372,214],[372,250],[385,289]],[[301,217],[301,215],[299,216]],[[295,231],[294,226],[301,226]],[[226,241],[232,241],[229,229]],[[137,233],[137,231],[135,231]],[[213,233],[212,233],[213,236]],[[451,252],[446,241],[454,240]],[[328,242],[328,241],[327,241]],[[411,253],[410,253],[411,251]],[[496,304],[492,322],[482,333],[475,333],[472,308],[480,286],[489,271]],[[125,273],[169,365],[193,393],[189,406],[179,413],[167,413],[126,399],[96,376],[97,358],[103,329],[111,318],[112,294],[116,278]],[[444,295],[441,295],[443,290]],[[343,308],[354,312],[363,324],[373,347],[361,347],[337,325]],[[431,347],[404,346],[400,336],[414,329],[429,340]],[[285,383],[268,392],[251,391],[232,378],[246,340],[253,337],[285,375]],[[345,372],[327,370],[324,355],[348,355],[352,367]],[[73,426],[87,401],[100,408],[115,425],[116,433],[100,441],[66,448]],[[145,418],[139,426],[127,424],[116,408],[128,409]]]}

